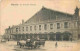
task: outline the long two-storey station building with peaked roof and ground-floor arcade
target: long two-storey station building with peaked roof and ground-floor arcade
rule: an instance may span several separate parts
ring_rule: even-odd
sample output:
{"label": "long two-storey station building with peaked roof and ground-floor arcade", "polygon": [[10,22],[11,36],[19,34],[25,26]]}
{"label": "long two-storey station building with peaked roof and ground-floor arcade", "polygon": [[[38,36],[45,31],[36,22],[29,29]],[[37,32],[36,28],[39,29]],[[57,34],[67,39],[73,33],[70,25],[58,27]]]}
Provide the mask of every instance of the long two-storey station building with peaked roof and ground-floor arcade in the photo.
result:
{"label": "long two-storey station building with peaked roof and ground-floor arcade", "polygon": [[5,39],[42,38],[46,40],[80,39],[79,8],[68,14],[42,7],[29,20],[5,29]]}

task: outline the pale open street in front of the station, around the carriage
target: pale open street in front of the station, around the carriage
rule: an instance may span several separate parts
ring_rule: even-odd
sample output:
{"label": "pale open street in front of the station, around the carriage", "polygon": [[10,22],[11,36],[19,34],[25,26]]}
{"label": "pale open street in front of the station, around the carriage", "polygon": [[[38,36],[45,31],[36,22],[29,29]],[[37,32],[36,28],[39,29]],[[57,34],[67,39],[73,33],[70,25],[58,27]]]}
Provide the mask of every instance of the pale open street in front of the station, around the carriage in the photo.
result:
{"label": "pale open street in front of the station, around the carriage", "polygon": [[0,43],[0,51],[80,51],[80,42],[57,41],[57,47],[55,47],[55,43],[56,41],[46,41],[44,47],[28,49],[20,48],[16,41],[8,41]]}

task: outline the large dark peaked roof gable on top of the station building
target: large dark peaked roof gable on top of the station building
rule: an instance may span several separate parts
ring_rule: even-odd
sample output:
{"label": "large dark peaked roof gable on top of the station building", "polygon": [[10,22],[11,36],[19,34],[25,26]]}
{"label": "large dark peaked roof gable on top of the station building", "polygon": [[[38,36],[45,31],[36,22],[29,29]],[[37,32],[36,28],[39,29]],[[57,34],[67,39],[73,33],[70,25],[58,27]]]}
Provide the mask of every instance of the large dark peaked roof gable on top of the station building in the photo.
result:
{"label": "large dark peaked roof gable on top of the station building", "polygon": [[33,15],[25,23],[31,23],[31,22],[36,23],[39,21],[55,20],[56,17],[57,18],[72,18],[73,15],[42,7],[40,11],[38,11],[35,15]]}

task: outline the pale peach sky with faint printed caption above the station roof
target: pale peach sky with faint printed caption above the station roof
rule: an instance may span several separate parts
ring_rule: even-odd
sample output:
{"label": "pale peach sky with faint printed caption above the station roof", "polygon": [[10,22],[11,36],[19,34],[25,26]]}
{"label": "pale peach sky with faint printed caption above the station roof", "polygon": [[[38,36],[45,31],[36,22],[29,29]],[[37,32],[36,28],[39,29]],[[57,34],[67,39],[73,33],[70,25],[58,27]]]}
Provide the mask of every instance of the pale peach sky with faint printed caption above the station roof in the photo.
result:
{"label": "pale peach sky with faint printed caption above the station roof", "polygon": [[27,21],[42,6],[69,14],[73,14],[76,6],[80,8],[79,0],[1,0],[0,1],[0,35],[9,26]]}

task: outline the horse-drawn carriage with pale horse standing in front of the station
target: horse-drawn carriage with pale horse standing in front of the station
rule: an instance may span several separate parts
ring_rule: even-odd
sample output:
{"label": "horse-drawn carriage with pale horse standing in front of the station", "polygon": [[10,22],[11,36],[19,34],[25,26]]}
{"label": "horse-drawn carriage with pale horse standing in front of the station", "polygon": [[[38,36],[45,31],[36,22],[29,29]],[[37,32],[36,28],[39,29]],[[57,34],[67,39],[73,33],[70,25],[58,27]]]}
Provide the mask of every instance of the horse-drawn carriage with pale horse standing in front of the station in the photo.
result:
{"label": "horse-drawn carriage with pale horse standing in front of the station", "polygon": [[21,41],[17,41],[17,45],[21,47],[27,47],[27,48],[39,48],[40,46],[44,46],[45,45],[45,40],[44,39],[40,39],[40,40],[21,40]]}

